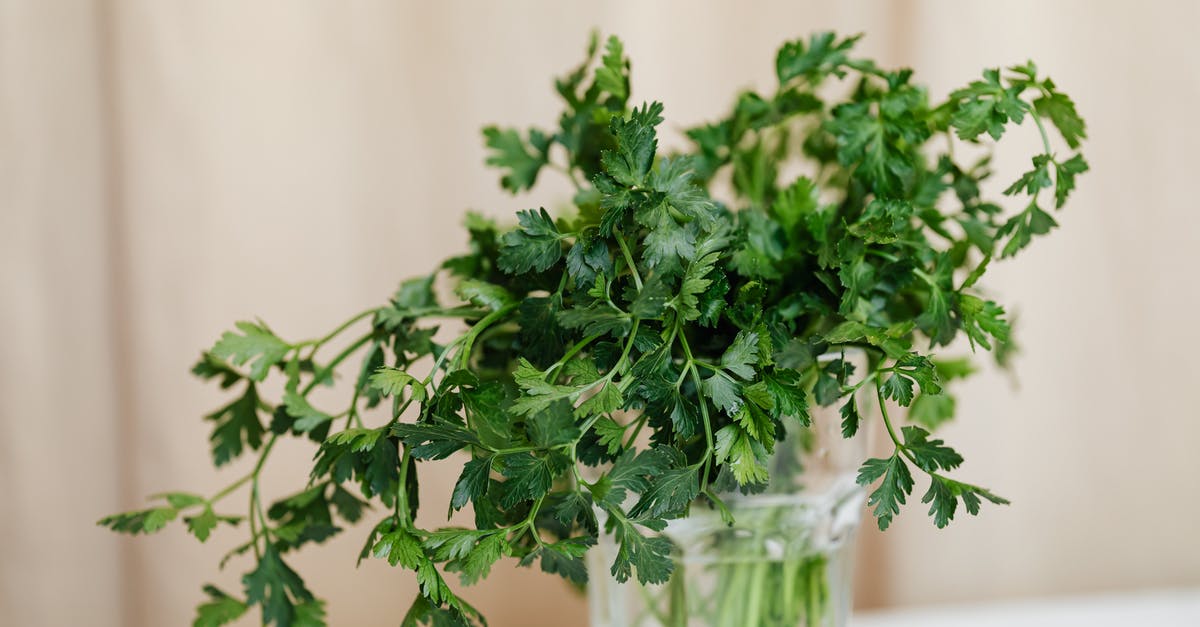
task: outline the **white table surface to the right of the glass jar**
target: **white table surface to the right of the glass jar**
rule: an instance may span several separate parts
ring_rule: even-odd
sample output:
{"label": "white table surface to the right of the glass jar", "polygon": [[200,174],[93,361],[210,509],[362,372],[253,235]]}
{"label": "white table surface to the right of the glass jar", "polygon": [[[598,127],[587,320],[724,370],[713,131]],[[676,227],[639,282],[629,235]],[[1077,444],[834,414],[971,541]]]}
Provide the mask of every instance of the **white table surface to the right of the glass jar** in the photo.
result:
{"label": "white table surface to the right of the glass jar", "polygon": [[851,627],[1200,627],[1200,589],[858,613]]}

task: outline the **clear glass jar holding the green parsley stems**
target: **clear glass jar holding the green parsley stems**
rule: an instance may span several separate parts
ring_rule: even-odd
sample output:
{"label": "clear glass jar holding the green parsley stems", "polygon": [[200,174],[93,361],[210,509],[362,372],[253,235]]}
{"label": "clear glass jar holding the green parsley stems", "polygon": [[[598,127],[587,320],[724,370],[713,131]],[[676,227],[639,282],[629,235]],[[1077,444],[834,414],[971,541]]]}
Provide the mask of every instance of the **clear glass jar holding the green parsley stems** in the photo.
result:
{"label": "clear glass jar holding the green parsley stems", "polygon": [[[826,354],[854,366],[847,383],[866,374],[862,351]],[[864,413],[874,389],[858,390]],[[840,404],[810,401],[812,425],[785,420],[788,432],[772,455],[761,494],[722,496],[734,516],[727,526],[697,506],[664,532],[676,545],[676,571],[662,585],[617,583],[616,554],[601,535],[588,551],[588,604],[593,627],[844,627],[851,610],[853,542],[865,490],[854,483],[866,459],[865,429],[841,436]]]}

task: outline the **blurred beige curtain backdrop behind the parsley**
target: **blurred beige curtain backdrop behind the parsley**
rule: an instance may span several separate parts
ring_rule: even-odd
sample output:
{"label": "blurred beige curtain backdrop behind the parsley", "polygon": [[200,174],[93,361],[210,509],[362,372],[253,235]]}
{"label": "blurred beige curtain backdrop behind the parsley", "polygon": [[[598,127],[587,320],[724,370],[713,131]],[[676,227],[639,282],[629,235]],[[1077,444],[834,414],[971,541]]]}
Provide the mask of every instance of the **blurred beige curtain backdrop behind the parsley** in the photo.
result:
{"label": "blurred beige curtain backdrop behind the parsley", "polygon": [[[383,303],[463,250],[468,208],[565,199],[551,177],[503,193],[479,129],[550,126],[551,77],[594,28],[674,130],[769,88],[775,48],[815,30],[866,32],[863,55],[934,97],[1034,59],[1087,119],[1092,172],[1062,229],[989,273],[1019,376],[960,386],[944,431],[1014,504],[943,531],[911,504],[865,530],[857,601],[1200,586],[1200,4],[0,0],[0,625],[184,625],[203,583],[239,587],[216,561],[244,531],[95,526],[246,471],[211,470],[200,417],[224,395],[188,368],[234,320],[307,338]],[[1037,133],[1012,144],[1006,183]],[[281,449],[268,494],[311,454]],[[436,513],[454,477],[422,479]],[[295,560],[331,625],[395,625],[415,591],[355,569],[365,533]],[[584,622],[535,571],[469,598],[497,627]]]}

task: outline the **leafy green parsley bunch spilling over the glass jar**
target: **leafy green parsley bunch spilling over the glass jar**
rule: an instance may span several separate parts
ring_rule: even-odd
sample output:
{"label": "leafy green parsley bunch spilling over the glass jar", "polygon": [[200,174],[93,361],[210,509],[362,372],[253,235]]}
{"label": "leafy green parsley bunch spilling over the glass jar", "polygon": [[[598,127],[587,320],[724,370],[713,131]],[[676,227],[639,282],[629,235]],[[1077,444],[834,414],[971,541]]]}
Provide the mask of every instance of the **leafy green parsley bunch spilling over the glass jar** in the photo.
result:
{"label": "leafy green parsley bunch spilling over the glass jar", "polygon": [[[863,386],[876,390],[894,444],[858,474],[875,485],[880,529],[913,495],[914,472],[938,527],[960,506],[976,514],[983,501],[1007,502],[948,476],[962,458],[931,431],[954,413],[946,384],[971,366],[934,354],[960,334],[1001,362],[1008,354],[1004,310],[977,283],[995,257],[1056,226],[1048,208],[1087,169],[1080,154],[1051,148],[1046,123],[1070,150],[1085,125],[1032,62],[988,70],[931,102],[910,70],[854,56],[857,40],[784,44],[778,88],[740,94],[727,117],[686,131],[686,151],[664,154],[664,106],[632,106],[620,41],[596,61],[593,38],[587,60],[554,83],[556,127],[484,131],[506,190],[557,171],[575,186],[572,211],[520,211],[515,228],[469,215],[467,255],[324,336],[290,341],[238,323],[193,372],[235,392],[205,417],[214,462],[248,453],[253,470],[212,496],[164,494],[101,524],[149,533],[182,518],[203,542],[245,521],[246,543],[222,560],[253,556],[245,590],[205,587],[196,625],[259,605],[264,623],[311,626],[324,623],[323,603],[284,556],[370,515],[360,560],[416,573],[404,625],[482,622],[446,573],[470,584],[512,557],[583,584],[582,556],[600,533],[618,544],[618,580],[666,581],[667,520],[697,507],[731,516],[720,495],[762,489],[785,424],[806,425],[812,404],[836,405],[853,437]],[[980,191],[988,159],[962,163],[954,145],[1001,139],[1026,119],[1044,151],[1004,190],[1027,198],[1010,213]],[[796,171],[805,174],[782,175]],[[438,275],[455,285],[452,303],[437,298]],[[466,329],[443,344],[446,320]],[[869,356],[854,384],[847,359],[817,360],[847,347]],[[282,377],[281,398],[262,388],[271,376]],[[338,376],[352,383],[346,406],[310,401]],[[378,419],[366,412],[377,406]],[[259,476],[287,438],[317,446],[312,473],[300,491],[269,498]],[[469,506],[474,525],[422,529],[418,468],[451,456],[462,470],[450,509]],[[242,488],[248,506],[224,513]]]}

